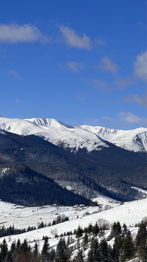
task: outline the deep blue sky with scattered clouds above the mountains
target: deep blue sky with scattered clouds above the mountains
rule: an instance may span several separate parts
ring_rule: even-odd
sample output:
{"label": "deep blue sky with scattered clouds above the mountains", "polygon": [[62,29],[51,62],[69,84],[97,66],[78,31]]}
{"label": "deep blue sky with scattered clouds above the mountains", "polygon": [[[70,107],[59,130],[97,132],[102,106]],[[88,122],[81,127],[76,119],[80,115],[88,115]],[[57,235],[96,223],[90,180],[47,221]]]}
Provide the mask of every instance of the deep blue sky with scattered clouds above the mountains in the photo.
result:
{"label": "deep blue sky with scattered clouds above the mountains", "polygon": [[0,114],[146,126],[146,1],[1,1]]}

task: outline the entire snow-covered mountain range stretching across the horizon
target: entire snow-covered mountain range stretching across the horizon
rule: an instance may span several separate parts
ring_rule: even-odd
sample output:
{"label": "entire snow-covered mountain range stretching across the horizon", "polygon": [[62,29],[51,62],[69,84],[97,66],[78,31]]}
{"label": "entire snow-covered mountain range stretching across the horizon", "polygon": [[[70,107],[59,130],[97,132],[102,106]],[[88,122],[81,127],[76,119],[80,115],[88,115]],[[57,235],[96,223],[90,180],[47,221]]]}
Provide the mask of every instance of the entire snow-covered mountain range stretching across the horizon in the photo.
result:
{"label": "entire snow-covered mountain range stretching across the horizon", "polygon": [[115,130],[100,126],[72,126],[55,119],[32,118],[11,119],[0,116],[0,128],[18,135],[38,135],[53,144],[76,152],[78,148],[87,151],[109,147],[109,142],[134,152],[147,151],[147,129]]}

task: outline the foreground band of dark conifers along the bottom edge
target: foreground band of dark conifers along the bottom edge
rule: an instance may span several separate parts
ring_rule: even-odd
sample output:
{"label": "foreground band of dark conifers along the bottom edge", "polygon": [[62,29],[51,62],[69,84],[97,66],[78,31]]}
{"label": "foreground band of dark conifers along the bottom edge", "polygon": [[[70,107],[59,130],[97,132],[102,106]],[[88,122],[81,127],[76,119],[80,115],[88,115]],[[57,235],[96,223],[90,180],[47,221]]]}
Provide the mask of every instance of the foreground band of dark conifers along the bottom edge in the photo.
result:
{"label": "foreground band of dark conifers along the bottom edge", "polygon": [[[8,250],[8,244],[3,239],[0,244],[0,261],[2,262],[125,262],[135,257],[139,261],[146,262],[146,220],[138,225],[138,232],[135,238],[127,229],[126,224],[119,221],[112,225],[111,237],[114,237],[113,247],[108,244],[108,238],[102,228],[95,223],[93,228],[85,227],[83,234],[81,226],[75,229],[76,240],[68,236],[67,240],[61,236],[56,250],[50,248],[49,238],[43,236],[44,244],[39,253],[39,240],[34,239],[34,247],[25,238],[21,243],[14,240]],[[100,238],[100,241],[99,239]],[[88,249],[87,256],[84,251]],[[77,250],[75,256],[71,257],[74,250]]]}

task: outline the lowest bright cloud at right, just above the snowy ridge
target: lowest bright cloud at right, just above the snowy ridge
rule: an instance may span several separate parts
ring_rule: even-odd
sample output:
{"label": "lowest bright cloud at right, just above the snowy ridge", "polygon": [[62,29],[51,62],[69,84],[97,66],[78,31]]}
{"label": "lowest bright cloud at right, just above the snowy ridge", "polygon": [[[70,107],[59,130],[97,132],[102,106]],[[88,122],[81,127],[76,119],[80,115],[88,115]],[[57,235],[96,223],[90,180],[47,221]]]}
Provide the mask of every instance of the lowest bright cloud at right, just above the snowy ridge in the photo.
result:
{"label": "lowest bright cloud at right, just above the snowy ridge", "polygon": [[132,123],[132,124],[146,124],[146,119],[140,116],[136,116],[134,114],[132,114],[131,112],[124,112],[121,111],[118,116],[120,117],[120,119],[122,121],[128,122],[128,123]]}

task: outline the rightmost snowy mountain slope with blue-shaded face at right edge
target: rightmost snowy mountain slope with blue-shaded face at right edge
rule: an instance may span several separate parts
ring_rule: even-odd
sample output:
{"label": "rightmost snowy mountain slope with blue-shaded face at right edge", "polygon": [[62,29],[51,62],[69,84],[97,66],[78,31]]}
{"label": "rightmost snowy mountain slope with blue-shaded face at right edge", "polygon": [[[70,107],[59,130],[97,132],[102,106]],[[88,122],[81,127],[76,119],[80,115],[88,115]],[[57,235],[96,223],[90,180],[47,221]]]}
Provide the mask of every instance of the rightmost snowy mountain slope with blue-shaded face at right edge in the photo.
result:
{"label": "rightmost snowy mountain slope with blue-shaded face at right edge", "polygon": [[129,151],[144,152],[147,151],[147,131],[140,127],[110,139],[109,142]]}

